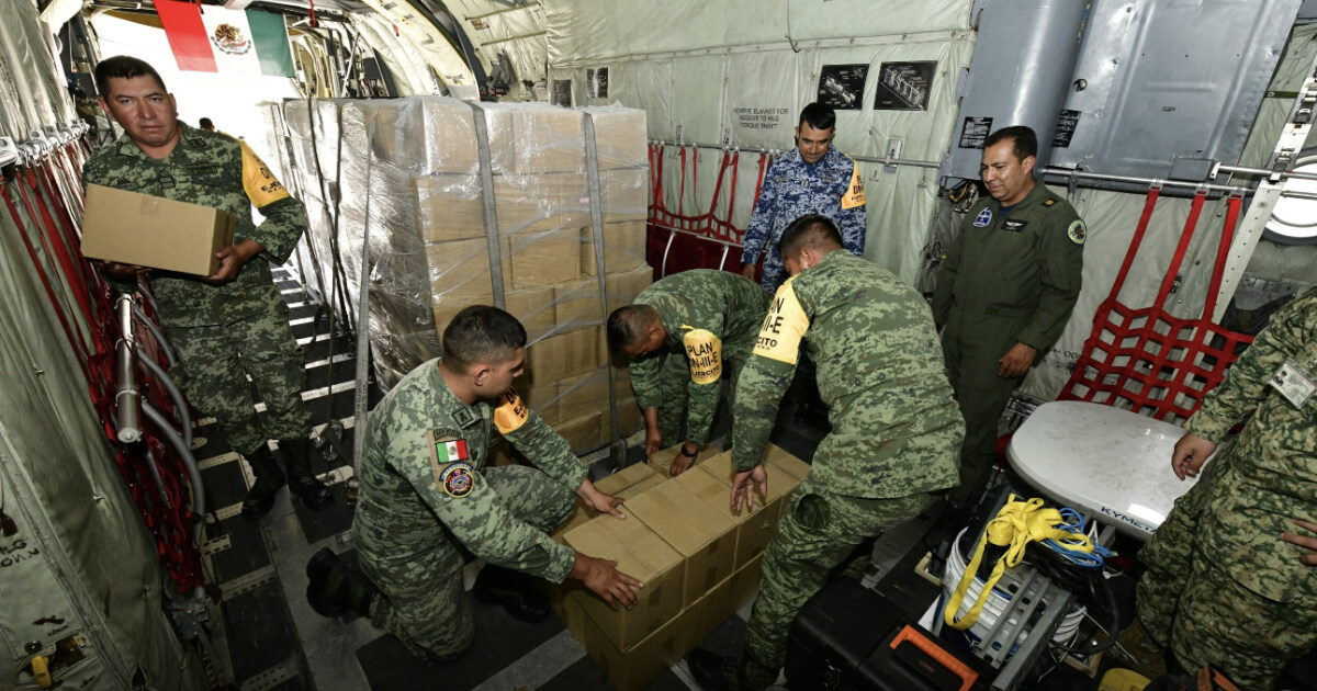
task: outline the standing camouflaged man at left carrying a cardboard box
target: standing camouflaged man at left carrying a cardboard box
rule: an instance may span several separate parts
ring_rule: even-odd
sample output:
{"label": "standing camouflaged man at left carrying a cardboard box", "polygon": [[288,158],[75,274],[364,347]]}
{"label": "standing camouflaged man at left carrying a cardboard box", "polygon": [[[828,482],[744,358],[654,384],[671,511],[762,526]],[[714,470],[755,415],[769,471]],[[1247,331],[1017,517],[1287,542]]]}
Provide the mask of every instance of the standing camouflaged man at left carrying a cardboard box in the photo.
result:
{"label": "standing camouflaged man at left carrying a cardboard box", "polygon": [[[171,372],[188,400],[213,415],[229,445],[252,465],[255,484],[242,515],[270,511],[284,475],[267,440],[279,440],[291,488],[308,507],[333,500],[311,473],[311,417],[302,401],[302,351],[270,265],[288,259],[306,230],[306,213],[248,146],[178,121],[174,96],[150,64],[115,57],[96,66],[100,105],[124,136],[83,170],[84,184],[130,190],[227,211],[237,218],[234,245],[216,254],[209,278],[155,271],[150,286],[159,321],[179,355]],[[252,207],[265,216],[252,222]],[[146,269],[101,263],[120,287],[137,288]],[[257,417],[248,376],[266,404]]]}

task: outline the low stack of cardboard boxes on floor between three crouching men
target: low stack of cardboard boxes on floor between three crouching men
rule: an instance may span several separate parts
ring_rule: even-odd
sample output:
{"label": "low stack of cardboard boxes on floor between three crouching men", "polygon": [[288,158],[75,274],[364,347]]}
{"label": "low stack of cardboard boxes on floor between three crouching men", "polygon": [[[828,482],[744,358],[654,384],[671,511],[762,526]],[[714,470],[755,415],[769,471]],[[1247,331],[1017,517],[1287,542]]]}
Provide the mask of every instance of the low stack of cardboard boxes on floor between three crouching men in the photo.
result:
{"label": "low stack of cardboard boxes on floor between three crouching men", "polygon": [[764,548],[809,465],[769,445],[769,495],[731,509],[731,451],[677,478],[673,446],[595,483],[626,499],[626,520],[578,507],[554,540],[605,559],[644,587],[631,609],[611,609],[582,586],[551,588],[553,611],[620,691],[641,688],[699,645],[759,591]]}

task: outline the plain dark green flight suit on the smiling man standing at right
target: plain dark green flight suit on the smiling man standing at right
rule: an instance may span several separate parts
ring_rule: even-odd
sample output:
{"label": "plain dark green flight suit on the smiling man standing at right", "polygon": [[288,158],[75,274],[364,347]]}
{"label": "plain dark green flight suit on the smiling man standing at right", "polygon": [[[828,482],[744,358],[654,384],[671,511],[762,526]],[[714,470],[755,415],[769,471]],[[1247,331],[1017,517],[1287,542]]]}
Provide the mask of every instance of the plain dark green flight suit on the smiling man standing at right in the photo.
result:
{"label": "plain dark green flight suit on the smiling man standing at right", "polygon": [[1085,233],[1075,208],[1035,183],[1008,213],[990,197],[971,208],[942,263],[932,316],[965,417],[961,499],[988,483],[997,420],[1023,379],[997,376],[998,361],[1017,342],[1042,358],[1060,337],[1079,299]]}

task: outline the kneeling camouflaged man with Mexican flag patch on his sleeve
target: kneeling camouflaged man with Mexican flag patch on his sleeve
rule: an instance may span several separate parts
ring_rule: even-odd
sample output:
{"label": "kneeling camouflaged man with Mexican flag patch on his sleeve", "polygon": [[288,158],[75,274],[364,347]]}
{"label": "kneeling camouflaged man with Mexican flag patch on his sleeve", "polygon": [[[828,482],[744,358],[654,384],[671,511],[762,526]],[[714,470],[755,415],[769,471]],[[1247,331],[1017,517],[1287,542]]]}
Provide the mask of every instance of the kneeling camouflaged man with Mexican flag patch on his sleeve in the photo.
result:
{"label": "kneeling camouflaged man with Mexican flag patch on his sleeve", "polygon": [[[307,566],[312,608],[324,616],[352,608],[416,657],[452,659],[475,633],[462,592],[464,548],[487,562],[477,598],[519,619],[548,613],[520,574],[574,578],[610,604],[635,604],[631,587],[640,583],[615,562],[548,536],[577,496],[624,516],[622,500],[594,488],[566,440],[512,390],[525,359],[522,324],[502,309],[469,307],[444,330],[441,347],[440,359],[412,370],[370,415],[352,524],[363,574],[321,550]],[[543,470],[489,467],[491,428]]]}

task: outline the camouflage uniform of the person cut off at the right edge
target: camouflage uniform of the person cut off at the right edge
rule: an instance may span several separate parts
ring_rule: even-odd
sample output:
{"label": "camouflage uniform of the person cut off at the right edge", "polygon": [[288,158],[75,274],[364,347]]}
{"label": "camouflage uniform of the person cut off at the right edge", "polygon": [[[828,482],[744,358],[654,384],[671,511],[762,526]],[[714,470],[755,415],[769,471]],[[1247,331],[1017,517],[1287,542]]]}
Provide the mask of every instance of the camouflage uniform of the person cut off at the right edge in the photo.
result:
{"label": "camouflage uniform of the person cut off at the right edge", "polygon": [[1317,517],[1317,403],[1296,409],[1267,382],[1287,358],[1317,371],[1317,288],[1276,312],[1185,426],[1213,442],[1249,411],[1139,554],[1139,621],[1180,663],[1212,663],[1242,688],[1271,688],[1317,644],[1317,571],[1280,533]]}

